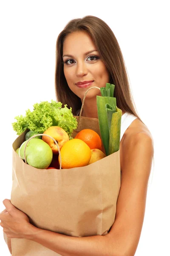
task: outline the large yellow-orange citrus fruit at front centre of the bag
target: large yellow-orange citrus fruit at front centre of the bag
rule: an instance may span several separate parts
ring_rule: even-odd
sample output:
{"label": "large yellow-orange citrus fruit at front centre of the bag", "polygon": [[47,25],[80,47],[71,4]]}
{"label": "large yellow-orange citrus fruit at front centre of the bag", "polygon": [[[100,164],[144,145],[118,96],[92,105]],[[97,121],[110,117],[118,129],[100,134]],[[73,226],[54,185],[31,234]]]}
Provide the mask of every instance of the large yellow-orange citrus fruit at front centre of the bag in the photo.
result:
{"label": "large yellow-orange citrus fruit at front centre of the bag", "polygon": [[91,149],[84,141],[79,139],[67,141],[62,146],[60,154],[62,169],[87,166],[91,159]]}

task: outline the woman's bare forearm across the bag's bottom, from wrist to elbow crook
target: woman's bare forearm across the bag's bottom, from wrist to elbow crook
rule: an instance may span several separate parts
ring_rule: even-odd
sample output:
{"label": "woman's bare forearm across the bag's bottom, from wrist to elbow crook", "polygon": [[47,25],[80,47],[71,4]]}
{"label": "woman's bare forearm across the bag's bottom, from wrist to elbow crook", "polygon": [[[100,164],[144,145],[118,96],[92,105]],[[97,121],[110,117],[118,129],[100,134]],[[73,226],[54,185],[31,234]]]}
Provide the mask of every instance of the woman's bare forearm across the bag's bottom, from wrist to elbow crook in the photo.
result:
{"label": "woman's bare forearm across the bag's bottom, from wrist to elbow crook", "polygon": [[107,235],[73,237],[32,226],[31,235],[26,238],[42,244],[62,256],[111,256],[108,253]]}

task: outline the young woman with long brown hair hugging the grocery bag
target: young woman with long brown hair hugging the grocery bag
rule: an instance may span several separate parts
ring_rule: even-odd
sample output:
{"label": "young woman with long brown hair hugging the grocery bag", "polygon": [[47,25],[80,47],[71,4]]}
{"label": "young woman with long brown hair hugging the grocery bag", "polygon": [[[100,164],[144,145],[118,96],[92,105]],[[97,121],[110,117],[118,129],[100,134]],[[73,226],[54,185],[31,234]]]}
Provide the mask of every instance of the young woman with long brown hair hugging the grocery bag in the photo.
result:
{"label": "young woman with long brown hair hugging the grocery bag", "polygon": [[[57,100],[79,114],[85,91],[115,84],[122,110],[120,138],[121,188],[116,218],[105,236],[71,237],[34,227],[27,215],[5,199],[0,225],[7,238],[25,238],[63,256],[133,256],[144,220],[147,184],[153,160],[153,139],[135,111],[119,44],[108,25],[94,16],[71,20],[56,47]],[[97,118],[96,88],[85,98],[82,116]]]}

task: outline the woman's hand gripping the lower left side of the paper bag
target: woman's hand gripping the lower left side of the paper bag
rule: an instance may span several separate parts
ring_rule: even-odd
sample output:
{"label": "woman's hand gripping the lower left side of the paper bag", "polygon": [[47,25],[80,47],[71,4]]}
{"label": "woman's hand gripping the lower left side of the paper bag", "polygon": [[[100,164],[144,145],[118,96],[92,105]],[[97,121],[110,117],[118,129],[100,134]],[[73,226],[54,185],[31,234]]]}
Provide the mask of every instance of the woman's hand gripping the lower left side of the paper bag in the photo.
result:
{"label": "woman's hand gripping the lower left side of the paper bag", "polygon": [[26,238],[31,225],[28,216],[14,207],[9,199],[5,199],[3,204],[6,207],[0,213],[0,226],[3,227],[3,232],[8,238]]}

